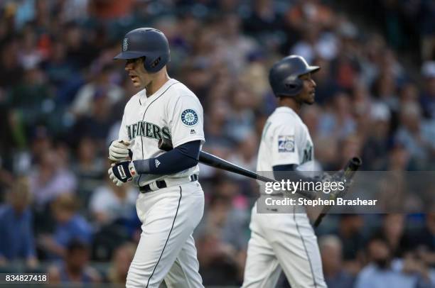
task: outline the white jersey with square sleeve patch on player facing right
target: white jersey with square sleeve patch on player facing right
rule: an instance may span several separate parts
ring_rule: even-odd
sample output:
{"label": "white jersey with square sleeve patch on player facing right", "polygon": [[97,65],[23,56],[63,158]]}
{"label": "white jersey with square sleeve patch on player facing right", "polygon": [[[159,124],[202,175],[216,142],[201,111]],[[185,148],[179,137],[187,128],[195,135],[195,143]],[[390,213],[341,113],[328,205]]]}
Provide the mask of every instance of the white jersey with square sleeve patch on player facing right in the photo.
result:
{"label": "white jersey with square sleeve patch on player facing right", "polygon": [[257,171],[273,171],[276,165],[301,165],[313,170],[314,150],[308,128],[296,112],[277,108],[264,125]]}

